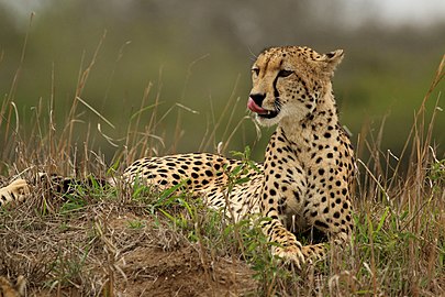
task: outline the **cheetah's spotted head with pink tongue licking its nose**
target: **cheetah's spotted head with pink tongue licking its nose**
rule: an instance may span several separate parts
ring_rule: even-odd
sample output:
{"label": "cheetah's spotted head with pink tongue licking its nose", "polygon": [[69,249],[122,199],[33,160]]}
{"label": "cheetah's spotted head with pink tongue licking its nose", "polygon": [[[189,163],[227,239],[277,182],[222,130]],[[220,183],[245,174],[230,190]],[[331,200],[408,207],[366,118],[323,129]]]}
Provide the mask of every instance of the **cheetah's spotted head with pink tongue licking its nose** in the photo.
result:
{"label": "cheetah's spotted head with pink tongue licking its nose", "polygon": [[253,88],[247,108],[262,125],[301,121],[331,91],[331,77],[343,51],[319,54],[309,47],[271,47],[252,67]]}

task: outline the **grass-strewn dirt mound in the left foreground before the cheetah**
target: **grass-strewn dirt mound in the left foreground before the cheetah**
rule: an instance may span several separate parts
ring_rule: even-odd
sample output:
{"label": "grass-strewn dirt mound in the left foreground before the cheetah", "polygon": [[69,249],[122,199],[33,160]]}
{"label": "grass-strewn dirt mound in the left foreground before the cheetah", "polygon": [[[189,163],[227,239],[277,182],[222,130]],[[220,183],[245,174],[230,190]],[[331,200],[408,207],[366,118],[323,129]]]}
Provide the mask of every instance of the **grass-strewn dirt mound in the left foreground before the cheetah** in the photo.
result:
{"label": "grass-strewn dirt mound in the left foreground before the cheetah", "polygon": [[44,209],[35,199],[0,213],[0,275],[23,275],[26,296],[240,296],[257,287],[245,262],[133,206],[101,201],[41,216],[36,205]]}

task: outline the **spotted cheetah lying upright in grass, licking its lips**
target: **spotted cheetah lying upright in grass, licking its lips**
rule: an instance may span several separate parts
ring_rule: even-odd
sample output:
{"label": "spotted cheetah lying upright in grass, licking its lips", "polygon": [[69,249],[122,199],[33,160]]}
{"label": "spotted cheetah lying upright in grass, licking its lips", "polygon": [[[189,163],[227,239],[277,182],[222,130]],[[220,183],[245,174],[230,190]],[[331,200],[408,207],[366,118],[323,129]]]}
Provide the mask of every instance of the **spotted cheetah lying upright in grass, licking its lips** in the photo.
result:
{"label": "spotted cheetah lying upright in grass, licking its lips", "polygon": [[[123,180],[157,187],[179,183],[214,209],[238,221],[251,213],[271,253],[298,267],[323,258],[326,243],[301,244],[296,234],[318,230],[334,244],[352,237],[354,152],[338,122],[332,77],[343,51],[319,54],[309,47],[271,47],[252,67],[247,108],[264,127],[277,125],[263,164],[246,168],[227,194],[230,173],[243,162],[218,154],[190,153],[135,161]],[[0,204],[23,200],[30,193],[19,179],[0,189]]]}

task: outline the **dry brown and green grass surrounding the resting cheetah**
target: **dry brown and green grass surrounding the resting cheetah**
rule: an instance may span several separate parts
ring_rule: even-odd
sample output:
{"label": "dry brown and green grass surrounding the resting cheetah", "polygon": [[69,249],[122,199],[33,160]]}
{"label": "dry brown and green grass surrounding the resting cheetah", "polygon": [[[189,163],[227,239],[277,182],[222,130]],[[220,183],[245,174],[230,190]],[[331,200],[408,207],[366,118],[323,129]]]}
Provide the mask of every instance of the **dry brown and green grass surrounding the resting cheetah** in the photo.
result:
{"label": "dry brown and green grass surrounding the resting cheetah", "polygon": [[[112,169],[89,150],[92,132],[82,146],[74,142],[77,107],[86,103],[82,89],[94,58],[79,73],[71,110],[57,131],[53,113],[42,116],[42,102],[33,130],[21,128],[13,95],[19,67],[0,109],[2,184],[19,175],[31,180],[38,170],[80,178],[119,175],[129,162],[153,154],[162,142],[157,125],[169,114],[157,113],[157,99],[147,102],[151,85],[129,121],[124,148],[114,156]],[[444,77],[444,64],[445,58],[401,155],[380,147],[383,125],[377,135],[364,129],[358,156],[368,151],[371,157],[359,160],[355,238],[348,249],[331,250],[314,266],[299,273],[282,267],[270,258],[258,228],[247,221],[224,222],[187,194],[92,183],[64,197],[36,186],[25,204],[0,209],[0,275],[25,276],[29,296],[444,295],[445,158],[433,146],[437,112],[425,118],[425,102],[434,99],[430,97]],[[229,100],[224,112],[235,101]],[[152,116],[140,131],[147,112]],[[202,147],[216,145],[214,130],[222,119],[213,120]],[[232,135],[226,131],[226,140]]]}

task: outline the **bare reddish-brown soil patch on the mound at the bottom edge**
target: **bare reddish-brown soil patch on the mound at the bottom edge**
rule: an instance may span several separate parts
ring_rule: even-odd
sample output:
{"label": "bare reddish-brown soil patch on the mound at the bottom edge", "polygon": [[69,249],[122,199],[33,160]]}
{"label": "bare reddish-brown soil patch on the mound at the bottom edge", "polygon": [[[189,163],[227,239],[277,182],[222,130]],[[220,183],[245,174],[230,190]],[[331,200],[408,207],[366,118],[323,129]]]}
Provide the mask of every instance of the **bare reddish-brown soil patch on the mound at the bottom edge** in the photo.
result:
{"label": "bare reddish-brown soil patch on the mound at the bottom edge", "polygon": [[[168,238],[160,232],[151,241]],[[125,296],[240,296],[256,287],[252,271],[241,261],[211,258],[207,251],[187,243],[171,251],[146,243],[140,242],[124,256],[116,287]]]}

